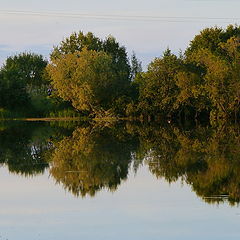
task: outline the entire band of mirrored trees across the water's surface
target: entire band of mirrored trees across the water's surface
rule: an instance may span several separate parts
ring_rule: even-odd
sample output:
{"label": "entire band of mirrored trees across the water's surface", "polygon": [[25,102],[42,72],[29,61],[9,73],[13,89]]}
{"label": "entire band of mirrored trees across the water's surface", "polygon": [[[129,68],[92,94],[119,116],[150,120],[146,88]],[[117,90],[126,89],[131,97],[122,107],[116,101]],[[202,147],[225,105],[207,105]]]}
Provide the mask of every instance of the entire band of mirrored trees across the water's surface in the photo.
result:
{"label": "entire band of mirrored trees across the water's surface", "polygon": [[0,127],[0,162],[25,176],[50,175],[75,196],[116,191],[141,164],[179,179],[208,203],[240,202],[240,129],[19,123]]}

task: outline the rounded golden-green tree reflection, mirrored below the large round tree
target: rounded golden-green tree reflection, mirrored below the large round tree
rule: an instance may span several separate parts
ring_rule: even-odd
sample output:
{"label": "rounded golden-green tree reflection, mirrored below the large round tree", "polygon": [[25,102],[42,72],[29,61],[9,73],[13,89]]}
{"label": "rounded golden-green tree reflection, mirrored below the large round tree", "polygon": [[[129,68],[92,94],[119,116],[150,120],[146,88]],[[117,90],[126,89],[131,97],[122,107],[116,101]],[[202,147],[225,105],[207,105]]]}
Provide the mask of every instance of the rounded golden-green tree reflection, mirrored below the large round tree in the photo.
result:
{"label": "rounded golden-green tree reflection, mirrored below the large round tree", "polygon": [[50,173],[77,196],[94,196],[103,188],[115,191],[127,179],[136,147],[134,136],[122,129],[78,127],[57,144]]}

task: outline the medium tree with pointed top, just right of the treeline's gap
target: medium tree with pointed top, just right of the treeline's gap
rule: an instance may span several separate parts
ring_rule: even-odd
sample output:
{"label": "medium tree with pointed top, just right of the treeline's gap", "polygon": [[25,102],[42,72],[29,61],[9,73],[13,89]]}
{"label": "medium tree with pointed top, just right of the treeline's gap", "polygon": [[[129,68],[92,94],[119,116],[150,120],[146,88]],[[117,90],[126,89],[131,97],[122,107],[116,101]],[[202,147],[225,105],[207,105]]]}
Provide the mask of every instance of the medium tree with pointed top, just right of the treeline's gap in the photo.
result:
{"label": "medium tree with pointed top, just right of the treeline's gap", "polygon": [[182,60],[167,49],[162,58],[156,58],[141,74],[139,85],[139,108],[147,115],[164,113],[170,116],[178,94],[175,77],[182,68]]}

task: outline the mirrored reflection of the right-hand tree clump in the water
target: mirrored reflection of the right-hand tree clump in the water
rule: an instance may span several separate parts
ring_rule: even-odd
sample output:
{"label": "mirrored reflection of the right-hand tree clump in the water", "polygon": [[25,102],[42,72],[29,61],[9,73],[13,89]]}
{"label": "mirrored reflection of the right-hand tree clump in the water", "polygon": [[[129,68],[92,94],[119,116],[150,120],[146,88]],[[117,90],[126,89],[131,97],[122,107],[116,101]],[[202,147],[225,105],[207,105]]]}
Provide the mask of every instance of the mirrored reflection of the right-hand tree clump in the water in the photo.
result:
{"label": "mirrored reflection of the right-hand tree clump in the water", "polygon": [[[149,128],[143,133],[146,164],[158,178],[181,178],[205,201],[239,202],[239,128]],[[150,136],[150,137],[149,137]],[[141,136],[140,136],[141,137]]]}

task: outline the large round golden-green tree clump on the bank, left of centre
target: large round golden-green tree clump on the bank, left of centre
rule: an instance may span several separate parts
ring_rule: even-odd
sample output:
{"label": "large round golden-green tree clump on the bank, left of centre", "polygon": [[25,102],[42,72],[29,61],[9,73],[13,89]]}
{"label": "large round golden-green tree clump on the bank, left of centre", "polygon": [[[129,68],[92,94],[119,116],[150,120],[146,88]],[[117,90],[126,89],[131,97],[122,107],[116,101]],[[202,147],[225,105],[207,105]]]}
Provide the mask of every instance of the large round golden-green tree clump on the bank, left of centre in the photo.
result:
{"label": "large round golden-green tree clump on the bank, left of centre", "polygon": [[81,111],[122,114],[130,99],[127,52],[111,36],[73,33],[54,48],[48,72],[57,94]]}

